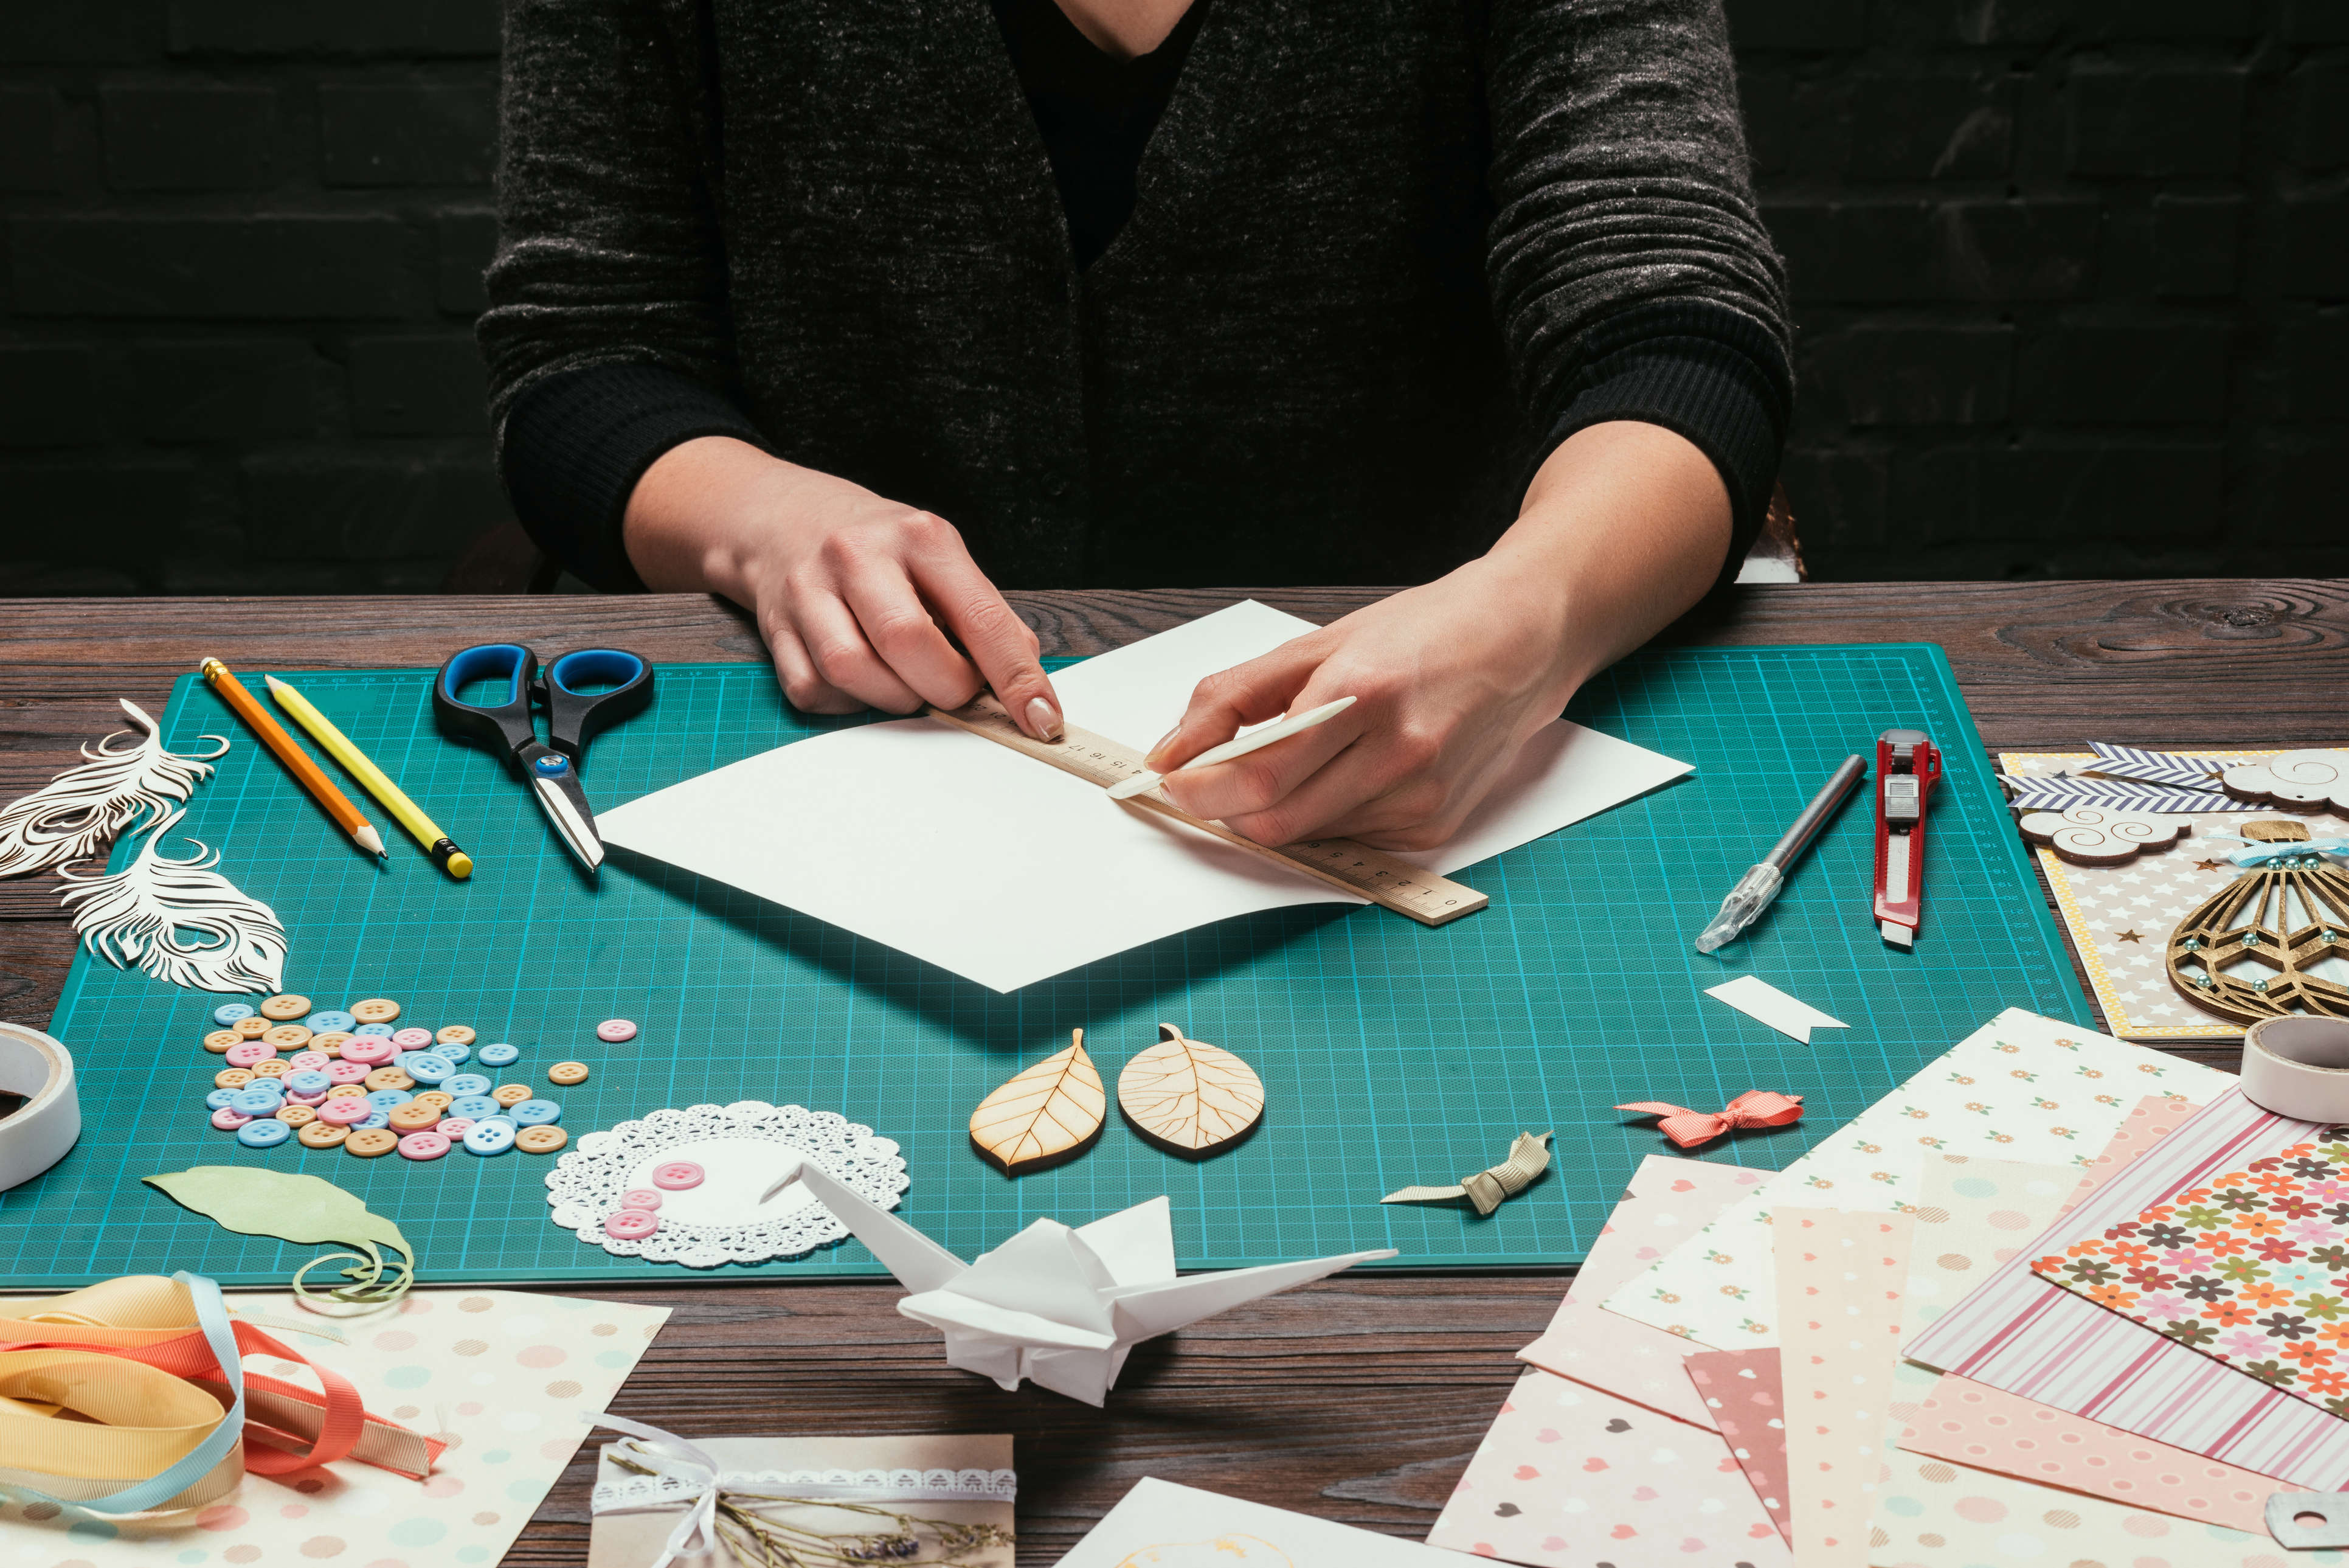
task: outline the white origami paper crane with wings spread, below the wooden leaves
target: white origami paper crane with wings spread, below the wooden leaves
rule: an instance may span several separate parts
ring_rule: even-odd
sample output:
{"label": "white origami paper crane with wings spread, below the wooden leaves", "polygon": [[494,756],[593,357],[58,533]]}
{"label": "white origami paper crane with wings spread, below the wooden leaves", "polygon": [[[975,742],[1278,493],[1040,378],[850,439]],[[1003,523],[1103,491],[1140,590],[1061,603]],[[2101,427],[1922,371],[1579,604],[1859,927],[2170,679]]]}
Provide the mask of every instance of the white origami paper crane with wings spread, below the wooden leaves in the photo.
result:
{"label": "white origami paper crane with wings spread, below the wooden leaves", "polygon": [[1090,1406],[1106,1401],[1125,1354],[1142,1340],[1395,1255],[1395,1248],[1381,1248],[1177,1279],[1174,1222],[1167,1199],[1158,1197],[1073,1229],[1036,1220],[977,1262],[963,1262],[832,1180],[815,1161],[794,1161],[768,1197],[792,1182],[801,1182],[911,1291],[897,1312],[947,1335],[947,1366],[994,1378],[1003,1389],[1017,1389],[1027,1378]]}

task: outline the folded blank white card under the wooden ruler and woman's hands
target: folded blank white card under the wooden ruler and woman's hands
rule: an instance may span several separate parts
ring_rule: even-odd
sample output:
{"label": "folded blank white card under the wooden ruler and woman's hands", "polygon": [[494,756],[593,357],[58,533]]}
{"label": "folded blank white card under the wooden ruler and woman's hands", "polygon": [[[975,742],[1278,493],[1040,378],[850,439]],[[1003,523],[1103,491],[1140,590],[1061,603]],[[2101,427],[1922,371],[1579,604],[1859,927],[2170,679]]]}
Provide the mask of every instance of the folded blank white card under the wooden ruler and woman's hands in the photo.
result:
{"label": "folded blank white card under the wooden ruler and woman's hands", "polygon": [[[1142,750],[1174,726],[1203,677],[1311,630],[1243,599],[1088,658],[1052,684],[1071,724]],[[1449,844],[1405,858],[1449,875],[1687,771],[1687,762],[1560,719]],[[1071,773],[935,719],[782,745],[599,813],[597,827],[606,844],[998,992],[1233,914],[1362,903],[1179,823],[1130,813]]]}

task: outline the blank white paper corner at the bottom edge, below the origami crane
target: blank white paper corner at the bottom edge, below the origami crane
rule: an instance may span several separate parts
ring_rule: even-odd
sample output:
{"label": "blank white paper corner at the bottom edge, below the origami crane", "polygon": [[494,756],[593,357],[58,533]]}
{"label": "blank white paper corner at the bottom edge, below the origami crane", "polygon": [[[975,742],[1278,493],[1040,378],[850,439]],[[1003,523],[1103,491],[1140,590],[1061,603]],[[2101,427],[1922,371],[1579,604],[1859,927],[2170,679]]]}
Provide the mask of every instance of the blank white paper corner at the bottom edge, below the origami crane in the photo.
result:
{"label": "blank white paper corner at the bottom edge, below the origami crane", "polygon": [[1461,1559],[1144,1476],[1057,1568],[1442,1568]]}

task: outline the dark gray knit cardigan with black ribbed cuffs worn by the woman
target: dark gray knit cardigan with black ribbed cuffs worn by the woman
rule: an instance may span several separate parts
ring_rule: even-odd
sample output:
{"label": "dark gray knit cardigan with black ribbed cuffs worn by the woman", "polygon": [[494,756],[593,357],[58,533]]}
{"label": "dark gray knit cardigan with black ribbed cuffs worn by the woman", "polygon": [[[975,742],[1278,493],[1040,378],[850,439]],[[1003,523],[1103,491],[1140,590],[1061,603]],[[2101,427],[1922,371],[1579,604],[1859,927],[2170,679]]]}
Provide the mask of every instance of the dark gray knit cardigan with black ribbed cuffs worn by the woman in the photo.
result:
{"label": "dark gray knit cardigan with black ribbed cuffs worn by the woman", "polygon": [[998,583],[1405,583],[1564,435],[1750,538],[1792,378],[1719,0],[1212,0],[1088,270],[987,0],[512,0],[479,334],[517,512],[634,585],[731,433]]}

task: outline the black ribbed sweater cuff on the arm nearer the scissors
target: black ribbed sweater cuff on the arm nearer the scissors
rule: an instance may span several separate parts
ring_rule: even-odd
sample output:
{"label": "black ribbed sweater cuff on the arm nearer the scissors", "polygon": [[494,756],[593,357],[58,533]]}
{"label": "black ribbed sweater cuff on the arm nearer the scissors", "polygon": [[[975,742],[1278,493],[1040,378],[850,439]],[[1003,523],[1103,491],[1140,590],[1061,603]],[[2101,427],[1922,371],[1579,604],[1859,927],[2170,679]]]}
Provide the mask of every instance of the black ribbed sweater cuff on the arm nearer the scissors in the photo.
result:
{"label": "black ribbed sweater cuff on the arm nearer the scissors", "polygon": [[698,435],[766,447],[759,425],[705,383],[660,364],[547,376],[505,416],[498,461],[514,517],[538,548],[606,592],[641,592],[620,524],[662,451]]}

